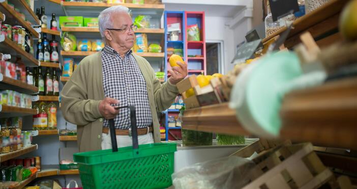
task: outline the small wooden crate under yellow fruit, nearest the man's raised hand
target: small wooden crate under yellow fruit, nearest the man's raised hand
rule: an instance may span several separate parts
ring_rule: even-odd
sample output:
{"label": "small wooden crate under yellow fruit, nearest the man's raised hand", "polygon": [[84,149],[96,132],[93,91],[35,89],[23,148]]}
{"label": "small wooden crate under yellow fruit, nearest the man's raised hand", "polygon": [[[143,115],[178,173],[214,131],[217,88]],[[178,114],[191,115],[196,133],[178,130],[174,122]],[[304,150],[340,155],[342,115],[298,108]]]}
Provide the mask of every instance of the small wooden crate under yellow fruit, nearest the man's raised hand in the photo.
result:
{"label": "small wooden crate under yellow fruit, nearest the man's raised hand", "polygon": [[[205,105],[217,104],[226,101],[221,89],[221,81],[219,78],[212,78],[210,85],[199,87],[196,75],[191,75],[188,78],[178,83],[177,89],[182,94],[186,109],[200,107]],[[187,97],[186,91],[193,88],[195,94]]]}

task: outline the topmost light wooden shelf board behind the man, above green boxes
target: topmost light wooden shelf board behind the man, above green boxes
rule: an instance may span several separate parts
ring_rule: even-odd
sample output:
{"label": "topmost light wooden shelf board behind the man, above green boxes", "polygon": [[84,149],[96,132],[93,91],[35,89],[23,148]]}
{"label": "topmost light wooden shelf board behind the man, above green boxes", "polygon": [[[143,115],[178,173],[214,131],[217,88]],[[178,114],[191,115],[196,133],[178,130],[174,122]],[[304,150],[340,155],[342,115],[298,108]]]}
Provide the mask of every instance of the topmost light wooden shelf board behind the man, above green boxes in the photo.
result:
{"label": "topmost light wooden shelf board behind the man, above green boxes", "polygon": [[[54,1],[53,1],[54,2]],[[93,2],[63,2],[63,6],[71,6],[71,7],[112,7],[116,5],[122,5],[130,8],[138,8],[138,9],[165,9],[165,5],[163,4],[131,4],[131,3],[93,3]]]}

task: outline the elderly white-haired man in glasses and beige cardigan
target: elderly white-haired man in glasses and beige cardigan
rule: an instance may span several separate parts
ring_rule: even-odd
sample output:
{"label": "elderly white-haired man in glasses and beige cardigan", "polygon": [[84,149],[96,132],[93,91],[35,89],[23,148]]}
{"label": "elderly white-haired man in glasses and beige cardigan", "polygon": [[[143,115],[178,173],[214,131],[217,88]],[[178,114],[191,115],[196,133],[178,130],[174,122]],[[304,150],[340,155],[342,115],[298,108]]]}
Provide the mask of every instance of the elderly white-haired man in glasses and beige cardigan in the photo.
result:
{"label": "elderly white-haired man in glasses and beige cardigan", "polygon": [[129,9],[114,6],[99,15],[99,30],[105,47],[85,57],[63,88],[62,113],[77,125],[79,151],[111,148],[109,119],[114,118],[118,147],[131,146],[128,109],[134,105],[139,144],[160,142],[158,112],[166,110],[178,90],[175,84],[187,76],[186,64],[169,70],[171,77],[161,85],[150,64],[135,55],[134,31]]}

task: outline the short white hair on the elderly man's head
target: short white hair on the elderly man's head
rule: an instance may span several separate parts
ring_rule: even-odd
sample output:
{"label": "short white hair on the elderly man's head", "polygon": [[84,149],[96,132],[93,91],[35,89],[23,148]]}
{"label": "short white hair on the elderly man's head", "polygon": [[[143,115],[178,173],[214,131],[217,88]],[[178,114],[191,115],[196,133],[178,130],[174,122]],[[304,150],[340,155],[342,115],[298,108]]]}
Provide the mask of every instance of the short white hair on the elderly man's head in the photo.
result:
{"label": "short white hair on the elderly man's head", "polygon": [[99,31],[102,39],[105,41],[104,31],[108,28],[113,28],[112,21],[110,20],[112,13],[125,12],[129,14],[127,7],[118,5],[104,9],[98,16]]}

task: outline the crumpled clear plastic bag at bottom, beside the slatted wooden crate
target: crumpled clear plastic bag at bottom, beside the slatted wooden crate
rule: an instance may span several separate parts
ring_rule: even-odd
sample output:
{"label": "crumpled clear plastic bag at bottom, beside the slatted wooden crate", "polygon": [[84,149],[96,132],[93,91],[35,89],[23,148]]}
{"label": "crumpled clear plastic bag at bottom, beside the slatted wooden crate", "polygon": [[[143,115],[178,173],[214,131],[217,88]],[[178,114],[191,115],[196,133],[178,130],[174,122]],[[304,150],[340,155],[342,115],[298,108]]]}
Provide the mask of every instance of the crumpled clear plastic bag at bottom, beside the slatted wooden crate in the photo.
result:
{"label": "crumpled clear plastic bag at bottom, beside the slatted wooden crate", "polygon": [[194,164],[171,175],[176,189],[241,188],[250,182],[255,164],[230,156]]}

